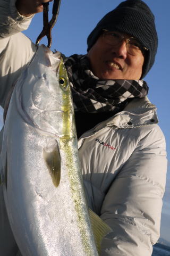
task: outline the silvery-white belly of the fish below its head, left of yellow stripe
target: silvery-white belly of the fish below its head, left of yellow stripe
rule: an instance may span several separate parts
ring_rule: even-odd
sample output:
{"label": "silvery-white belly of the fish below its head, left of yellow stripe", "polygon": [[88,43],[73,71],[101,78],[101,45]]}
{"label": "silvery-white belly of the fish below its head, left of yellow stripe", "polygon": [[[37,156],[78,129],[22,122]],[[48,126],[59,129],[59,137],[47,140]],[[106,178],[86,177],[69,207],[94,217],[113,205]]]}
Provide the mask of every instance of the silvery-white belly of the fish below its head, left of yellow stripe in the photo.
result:
{"label": "silvery-white belly of the fish below its head, left of yellow stripe", "polygon": [[40,137],[18,120],[8,141],[11,145],[7,151],[4,195],[8,218],[22,255],[87,255],[67,175],[62,170],[60,186],[54,187],[42,158],[43,147],[52,143],[52,138]]}

